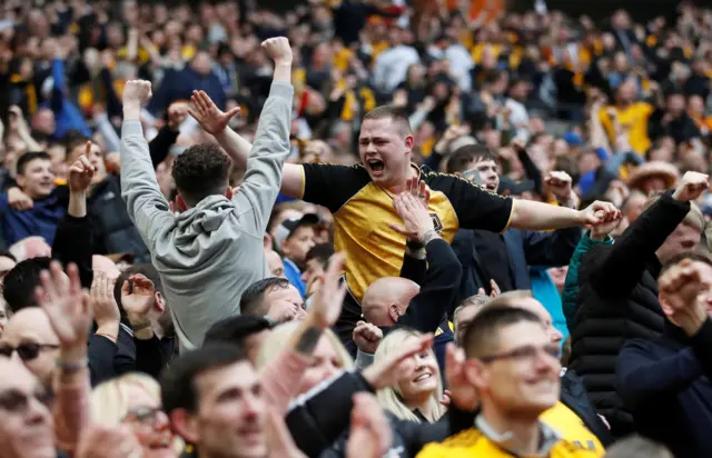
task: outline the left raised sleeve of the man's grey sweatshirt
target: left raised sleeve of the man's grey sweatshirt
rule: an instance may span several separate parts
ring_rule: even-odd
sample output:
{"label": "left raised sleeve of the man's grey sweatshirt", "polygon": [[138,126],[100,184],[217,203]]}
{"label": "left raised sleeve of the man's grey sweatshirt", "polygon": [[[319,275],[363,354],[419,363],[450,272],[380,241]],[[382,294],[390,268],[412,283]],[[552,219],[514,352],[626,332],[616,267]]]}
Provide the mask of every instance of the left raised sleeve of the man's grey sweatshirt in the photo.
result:
{"label": "left raised sleeve of the man's grey sweatshirt", "polygon": [[174,215],[158,187],[141,122],[123,121],[121,127],[121,197],[146,246],[154,251],[158,231],[171,223]]}

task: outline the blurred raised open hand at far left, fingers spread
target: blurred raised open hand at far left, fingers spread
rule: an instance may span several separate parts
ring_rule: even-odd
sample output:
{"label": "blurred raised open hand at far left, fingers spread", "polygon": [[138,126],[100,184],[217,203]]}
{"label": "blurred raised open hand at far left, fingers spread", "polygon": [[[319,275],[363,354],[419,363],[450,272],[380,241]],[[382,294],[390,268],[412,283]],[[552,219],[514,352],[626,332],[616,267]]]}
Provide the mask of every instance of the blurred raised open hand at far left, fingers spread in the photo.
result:
{"label": "blurred raised open hand at far left, fingers spread", "polygon": [[66,278],[59,262],[40,273],[37,301],[42,306],[62,349],[86,347],[91,329],[91,300],[81,289],[79,270],[70,263]]}

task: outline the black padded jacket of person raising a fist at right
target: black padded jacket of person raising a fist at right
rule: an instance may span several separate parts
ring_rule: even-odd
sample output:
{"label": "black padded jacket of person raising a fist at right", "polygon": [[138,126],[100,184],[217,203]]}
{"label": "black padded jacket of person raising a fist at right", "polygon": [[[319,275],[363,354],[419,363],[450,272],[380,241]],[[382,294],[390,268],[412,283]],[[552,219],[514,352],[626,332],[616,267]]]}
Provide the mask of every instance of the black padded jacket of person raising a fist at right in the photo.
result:
{"label": "black padded jacket of person raising a fist at right", "polygon": [[582,259],[568,368],[615,437],[633,432],[633,418],[615,392],[616,358],[626,340],[662,333],[655,251],[689,211],[690,203],[666,192],[615,243],[593,247]]}

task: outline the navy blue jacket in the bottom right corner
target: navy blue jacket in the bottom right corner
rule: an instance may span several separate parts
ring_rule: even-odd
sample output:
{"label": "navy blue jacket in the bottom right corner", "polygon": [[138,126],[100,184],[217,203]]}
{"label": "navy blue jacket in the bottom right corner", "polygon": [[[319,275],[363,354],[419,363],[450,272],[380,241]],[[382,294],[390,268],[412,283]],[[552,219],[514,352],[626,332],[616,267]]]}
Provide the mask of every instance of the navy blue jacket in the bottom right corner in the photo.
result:
{"label": "navy blue jacket in the bottom right corner", "polygon": [[616,388],[639,432],[678,458],[712,450],[712,320],[689,338],[669,321],[662,337],[630,340],[621,351]]}

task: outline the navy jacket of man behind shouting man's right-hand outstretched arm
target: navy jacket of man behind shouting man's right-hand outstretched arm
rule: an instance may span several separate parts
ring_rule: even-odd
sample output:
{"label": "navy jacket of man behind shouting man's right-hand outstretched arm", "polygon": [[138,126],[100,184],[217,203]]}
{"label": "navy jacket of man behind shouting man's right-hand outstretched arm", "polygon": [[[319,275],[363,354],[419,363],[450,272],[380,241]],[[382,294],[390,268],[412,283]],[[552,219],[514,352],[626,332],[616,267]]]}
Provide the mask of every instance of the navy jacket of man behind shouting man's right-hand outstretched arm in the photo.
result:
{"label": "navy jacket of man behind shouting man's right-hand outstretched arm", "polygon": [[[530,266],[567,266],[581,240],[581,228],[560,229],[553,232],[510,229],[504,232],[504,245],[510,258],[514,288],[532,289]],[[458,230],[452,247],[463,266],[459,300],[457,300],[459,303],[476,295],[479,288],[487,290],[490,278],[484,278],[485,269],[475,249],[473,230]]]}

